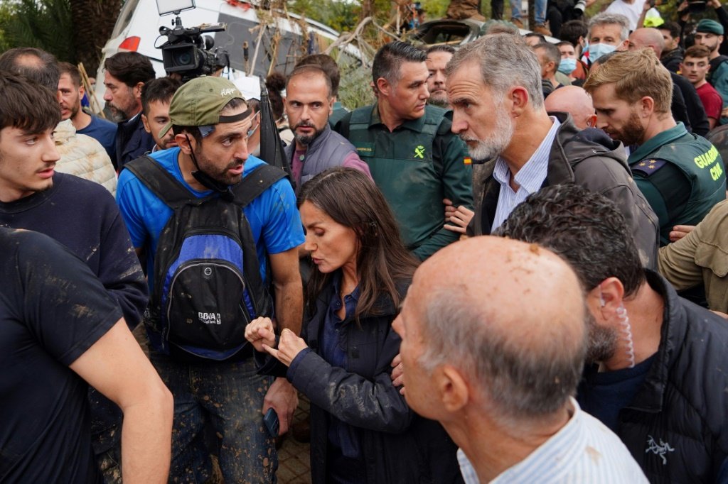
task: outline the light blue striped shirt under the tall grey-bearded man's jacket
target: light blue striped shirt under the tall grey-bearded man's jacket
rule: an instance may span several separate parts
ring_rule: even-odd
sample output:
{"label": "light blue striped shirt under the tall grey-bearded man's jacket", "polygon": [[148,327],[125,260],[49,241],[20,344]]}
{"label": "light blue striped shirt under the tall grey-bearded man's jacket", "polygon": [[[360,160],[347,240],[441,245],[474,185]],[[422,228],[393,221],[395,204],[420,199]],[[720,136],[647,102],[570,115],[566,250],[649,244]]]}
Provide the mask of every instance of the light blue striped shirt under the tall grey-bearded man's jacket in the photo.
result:
{"label": "light blue striped shirt under the tall grey-bearded man's jacket", "polygon": [[551,129],[547,132],[539,148],[531,155],[529,161],[526,161],[526,164],[521,166],[518,173],[513,176],[513,181],[518,185],[518,191],[514,192],[513,188],[510,187],[510,170],[505,160],[500,156],[496,158],[493,177],[501,185],[501,190],[498,195],[498,205],[496,206],[496,214],[491,232],[505,222],[505,219],[508,218],[510,212],[515,209],[518,203],[526,200],[526,197],[531,193],[539,191],[541,185],[544,184],[548,172],[548,158],[551,152],[551,145],[553,145],[553,140],[556,137],[558,126],[561,126],[561,123],[554,116],[549,116],[549,118],[553,121]]}

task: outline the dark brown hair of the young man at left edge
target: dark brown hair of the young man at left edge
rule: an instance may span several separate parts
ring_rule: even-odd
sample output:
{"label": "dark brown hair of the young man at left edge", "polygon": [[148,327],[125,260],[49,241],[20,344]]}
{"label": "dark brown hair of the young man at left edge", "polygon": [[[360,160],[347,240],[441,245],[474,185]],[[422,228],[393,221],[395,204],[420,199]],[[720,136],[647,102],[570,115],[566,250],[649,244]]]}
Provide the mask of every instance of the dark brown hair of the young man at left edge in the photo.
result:
{"label": "dark brown hair of the young man at left edge", "polygon": [[60,123],[60,105],[51,91],[22,74],[0,70],[0,129],[38,134]]}

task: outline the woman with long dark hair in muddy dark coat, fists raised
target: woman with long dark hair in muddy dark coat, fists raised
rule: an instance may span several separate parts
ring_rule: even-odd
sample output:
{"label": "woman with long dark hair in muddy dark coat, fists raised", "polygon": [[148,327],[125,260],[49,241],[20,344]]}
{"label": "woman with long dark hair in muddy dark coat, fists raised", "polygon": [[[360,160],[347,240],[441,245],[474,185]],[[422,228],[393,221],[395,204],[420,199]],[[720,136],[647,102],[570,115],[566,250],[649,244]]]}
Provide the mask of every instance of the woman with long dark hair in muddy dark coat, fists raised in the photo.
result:
{"label": "woman with long dark hair in muddy dark coat, fists raised", "polygon": [[312,482],[443,482],[432,477],[429,439],[442,442],[444,431],[422,432],[414,422],[424,419],[390,379],[400,347],[392,320],[417,262],[387,201],[365,174],[337,167],[307,182],[298,203],[318,268],[305,290],[302,337],[284,330],[274,349],[268,318],[251,322],[245,336],[277,360],[266,363],[287,366],[311,400]]}

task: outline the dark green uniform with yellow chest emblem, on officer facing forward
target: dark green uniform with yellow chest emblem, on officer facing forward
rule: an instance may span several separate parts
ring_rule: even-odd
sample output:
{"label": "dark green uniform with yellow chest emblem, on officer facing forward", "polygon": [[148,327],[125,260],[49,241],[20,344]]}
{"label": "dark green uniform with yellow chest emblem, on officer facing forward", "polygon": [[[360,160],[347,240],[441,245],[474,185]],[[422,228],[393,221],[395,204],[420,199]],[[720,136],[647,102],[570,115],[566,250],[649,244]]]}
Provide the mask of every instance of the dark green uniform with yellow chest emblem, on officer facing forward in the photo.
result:
{"label": "dark green uniform with yellow chest emblem, on officer facing forward", "polygon": [[443,228],[443,198],[472,208],[470,158],[464,142],[450,131],[446,112],[428,105],[424,116],[389,132],[375,104],[352,111],[336,125],[369,165],[405,246],[421,260],[459,238]]}

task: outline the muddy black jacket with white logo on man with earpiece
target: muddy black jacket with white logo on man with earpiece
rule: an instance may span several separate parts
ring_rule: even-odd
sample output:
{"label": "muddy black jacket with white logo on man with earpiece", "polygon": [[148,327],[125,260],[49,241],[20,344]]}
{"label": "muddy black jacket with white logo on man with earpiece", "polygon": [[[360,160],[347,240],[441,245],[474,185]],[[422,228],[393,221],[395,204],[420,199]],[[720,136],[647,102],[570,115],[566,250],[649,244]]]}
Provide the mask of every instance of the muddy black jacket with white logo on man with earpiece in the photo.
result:
{"label": "muddy black jacket with white logo on man with earpiece", "polygon": [[617,435],[651,483],[727,483],[728,323],[657,273],[647,282],[665,301],[660,347]]}

